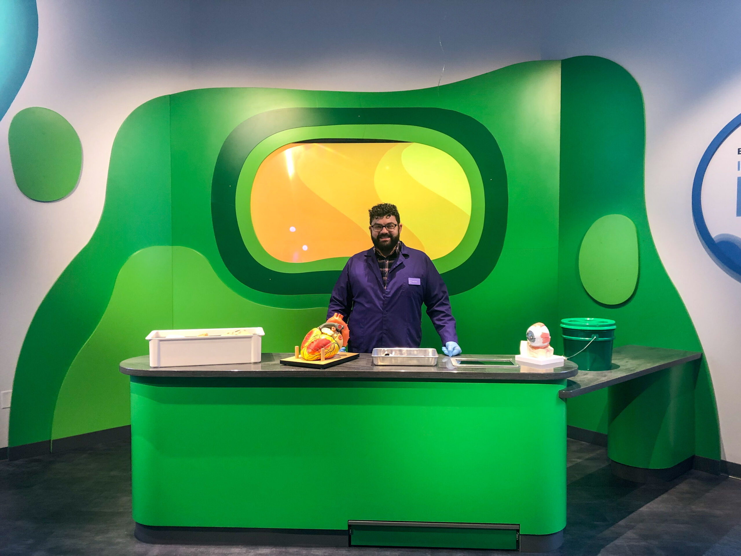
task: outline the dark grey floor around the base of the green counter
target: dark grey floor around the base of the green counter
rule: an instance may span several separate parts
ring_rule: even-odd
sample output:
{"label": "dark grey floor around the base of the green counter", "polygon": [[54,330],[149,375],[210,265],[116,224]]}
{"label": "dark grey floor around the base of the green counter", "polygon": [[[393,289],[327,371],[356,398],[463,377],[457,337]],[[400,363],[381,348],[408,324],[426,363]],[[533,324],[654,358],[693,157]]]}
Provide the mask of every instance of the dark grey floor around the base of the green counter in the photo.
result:
{"label": "dark grey floor around the base of the green counter", "polygon": [[[132,535],[125,442],[0,462],[0,555],[512,554],[428,549],[156,546]],[[741,555],[741,480],[690,471],[665,485],[610,473],[605,449],[568,440],[568,526],[559,555]]]}

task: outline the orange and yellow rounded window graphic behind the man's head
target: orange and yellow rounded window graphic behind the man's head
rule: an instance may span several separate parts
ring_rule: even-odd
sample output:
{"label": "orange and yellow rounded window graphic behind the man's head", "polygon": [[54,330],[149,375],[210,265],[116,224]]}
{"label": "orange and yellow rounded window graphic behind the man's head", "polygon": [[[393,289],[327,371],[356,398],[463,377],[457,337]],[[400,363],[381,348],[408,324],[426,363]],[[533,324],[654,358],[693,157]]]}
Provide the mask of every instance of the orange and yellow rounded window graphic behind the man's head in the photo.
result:
{"label": "orange and yellow rounded window graphic behind the man's head", "polygon": [[402,241],[438,259],[463,239],[471,188],[442,150],[408,142],[292,143],[253,182],[250,211],[262,247],[284,262],[350,257],[371,247],[368,209],[399,208]]}

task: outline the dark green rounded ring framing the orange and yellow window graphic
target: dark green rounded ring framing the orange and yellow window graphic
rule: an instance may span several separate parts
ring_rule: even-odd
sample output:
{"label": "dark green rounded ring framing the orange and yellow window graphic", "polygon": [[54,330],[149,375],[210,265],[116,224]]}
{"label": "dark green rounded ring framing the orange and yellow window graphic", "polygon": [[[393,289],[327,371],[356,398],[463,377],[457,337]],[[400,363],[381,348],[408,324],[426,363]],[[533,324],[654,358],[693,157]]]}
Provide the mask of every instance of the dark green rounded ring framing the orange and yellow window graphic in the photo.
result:
{"label": "dark green rounded ring framing the orange and yellow window graphic", "polygon": [[216,245],[230,273],[268,294],[329,294],[340,271],[289,274],[257,262],[239,232],[236,186],[245,160],[269,136],[293,128],[323,125],[413,125],[445,133],[471,153],[484,185],[484,223],[471,257],[442,274],[450,294],[479,285],[494,269],[507,229],[507,172],[502,150],[489,130],[471,116],[442,108],[280,108],[246,119],[227,136],[211,182],[211,218]]}

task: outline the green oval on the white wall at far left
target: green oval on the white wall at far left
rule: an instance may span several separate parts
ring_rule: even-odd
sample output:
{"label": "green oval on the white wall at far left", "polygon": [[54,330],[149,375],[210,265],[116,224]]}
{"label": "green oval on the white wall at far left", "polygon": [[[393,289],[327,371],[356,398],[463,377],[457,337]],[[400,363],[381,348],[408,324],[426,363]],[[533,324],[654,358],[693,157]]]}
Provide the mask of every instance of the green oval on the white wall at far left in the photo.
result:
{"label": "green oval on the white wall at far left", "polygon": [[58,201],[77,185],[82,145],[61,114],[48,108],[24,108],[10,122],[7,143],[13,176],[25,196]]}

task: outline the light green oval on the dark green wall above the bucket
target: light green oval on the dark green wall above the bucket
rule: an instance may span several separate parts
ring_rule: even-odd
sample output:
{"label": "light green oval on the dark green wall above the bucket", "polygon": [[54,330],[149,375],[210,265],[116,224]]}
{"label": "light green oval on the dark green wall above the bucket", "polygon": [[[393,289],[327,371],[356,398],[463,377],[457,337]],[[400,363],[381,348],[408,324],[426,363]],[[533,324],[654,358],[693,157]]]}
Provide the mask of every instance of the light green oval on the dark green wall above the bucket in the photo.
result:
{"label": "light green oval on the dark green wall above the bucket", "polygon": [[579,277],[587,293],[605,305],[619,305],[633,295],[638,267],[633,221],[622,214],[597,219],[579,249]]}

